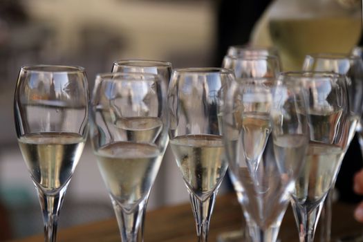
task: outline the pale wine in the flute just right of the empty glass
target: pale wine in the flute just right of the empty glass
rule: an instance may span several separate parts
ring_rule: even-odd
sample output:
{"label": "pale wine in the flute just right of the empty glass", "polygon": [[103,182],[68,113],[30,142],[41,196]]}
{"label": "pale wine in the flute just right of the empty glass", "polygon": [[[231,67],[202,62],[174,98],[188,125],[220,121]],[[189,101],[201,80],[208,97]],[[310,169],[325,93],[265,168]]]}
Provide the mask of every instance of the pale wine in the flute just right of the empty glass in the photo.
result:
{"label": "pale wine in the flute just right of the empty glass", "polygon": [[319,203],[331,188],[343,156],[341,147],[310,141],[306,163],[292,193],[295,200],[299,203]]}

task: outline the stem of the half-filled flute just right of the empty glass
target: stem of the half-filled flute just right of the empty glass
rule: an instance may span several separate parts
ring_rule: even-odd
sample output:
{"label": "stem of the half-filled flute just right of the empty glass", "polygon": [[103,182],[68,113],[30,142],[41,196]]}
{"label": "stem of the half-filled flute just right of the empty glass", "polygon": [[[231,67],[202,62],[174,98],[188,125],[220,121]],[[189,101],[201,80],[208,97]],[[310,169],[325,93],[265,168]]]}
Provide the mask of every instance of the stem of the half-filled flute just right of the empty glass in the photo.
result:
{"label": "stem of the half-filled flute just right of the empty glass", "polygon": [[314,241],[315,229],[320,213],[322,212],[324,199],[320,203],[312,206],[301,206],[299,203],[295,203],[294,199],[291,200],[292,211],[294,212],[299,230],[300,242]]}

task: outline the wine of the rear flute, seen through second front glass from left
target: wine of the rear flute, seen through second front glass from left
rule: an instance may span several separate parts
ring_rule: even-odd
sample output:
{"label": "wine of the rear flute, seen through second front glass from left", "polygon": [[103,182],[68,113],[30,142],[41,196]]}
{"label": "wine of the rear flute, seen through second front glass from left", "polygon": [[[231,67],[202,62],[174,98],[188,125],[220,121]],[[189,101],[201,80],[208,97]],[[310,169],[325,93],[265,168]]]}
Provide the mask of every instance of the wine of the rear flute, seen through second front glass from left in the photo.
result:
{"label": "wine of the rear flute, seen through second front glass from left", "polygon": [[120,118],[115,125],[123,129],[131,142],[153,143],[162,130],[162,120],[153,117]]}

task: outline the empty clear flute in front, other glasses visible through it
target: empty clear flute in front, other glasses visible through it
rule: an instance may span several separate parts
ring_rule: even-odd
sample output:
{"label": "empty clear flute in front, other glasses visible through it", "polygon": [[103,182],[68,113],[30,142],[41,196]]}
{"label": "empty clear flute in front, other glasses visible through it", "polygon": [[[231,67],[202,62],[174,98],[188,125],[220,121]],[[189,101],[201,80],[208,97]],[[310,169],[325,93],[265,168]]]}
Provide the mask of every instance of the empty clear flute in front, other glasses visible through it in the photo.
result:
{"label": "empty clear flute in front, other glasses visible through it", "polygon": [[292,84],[255,78],[233,85],[225,96],[226,156],[252,241],[277,240],[306,155],[304,96]]}

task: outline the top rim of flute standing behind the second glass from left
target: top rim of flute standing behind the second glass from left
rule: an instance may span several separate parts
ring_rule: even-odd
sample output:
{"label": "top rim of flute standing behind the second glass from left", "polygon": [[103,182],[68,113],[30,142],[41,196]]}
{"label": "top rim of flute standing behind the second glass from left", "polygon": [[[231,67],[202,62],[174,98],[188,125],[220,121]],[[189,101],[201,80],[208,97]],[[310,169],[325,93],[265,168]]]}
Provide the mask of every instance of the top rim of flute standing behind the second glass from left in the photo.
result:
{"label": "top rim of flute standing behind the second glass from left", "polygon": [[170,62],[147,59],[125,59],[113,62],[112,72],[120,73],[152,73],[160,75],[169,86],[172,65]]}

